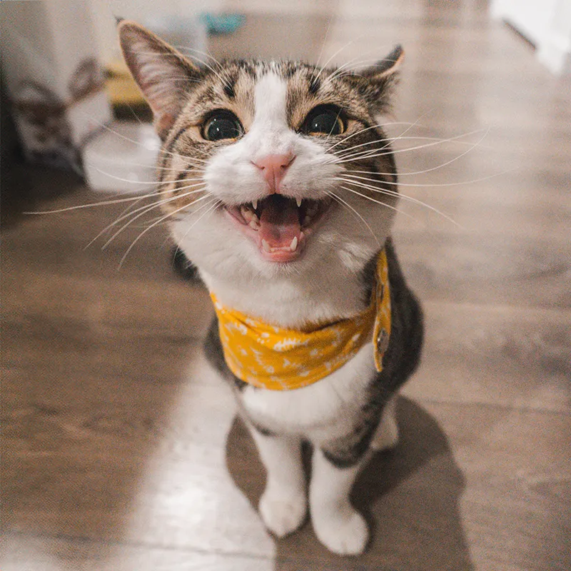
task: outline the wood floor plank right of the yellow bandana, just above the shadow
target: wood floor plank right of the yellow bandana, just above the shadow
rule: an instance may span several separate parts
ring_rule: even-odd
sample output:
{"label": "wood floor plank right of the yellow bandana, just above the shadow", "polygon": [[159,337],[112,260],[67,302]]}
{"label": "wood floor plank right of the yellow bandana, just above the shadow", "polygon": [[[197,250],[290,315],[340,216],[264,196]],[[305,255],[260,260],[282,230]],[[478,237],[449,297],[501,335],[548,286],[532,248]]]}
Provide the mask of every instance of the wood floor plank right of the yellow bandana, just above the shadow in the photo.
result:
{"label": "wood floor plank right of the yellow bandana, just above the shadow", "polygon": [[571,413],[571,313],[424,303],[412,398]]}

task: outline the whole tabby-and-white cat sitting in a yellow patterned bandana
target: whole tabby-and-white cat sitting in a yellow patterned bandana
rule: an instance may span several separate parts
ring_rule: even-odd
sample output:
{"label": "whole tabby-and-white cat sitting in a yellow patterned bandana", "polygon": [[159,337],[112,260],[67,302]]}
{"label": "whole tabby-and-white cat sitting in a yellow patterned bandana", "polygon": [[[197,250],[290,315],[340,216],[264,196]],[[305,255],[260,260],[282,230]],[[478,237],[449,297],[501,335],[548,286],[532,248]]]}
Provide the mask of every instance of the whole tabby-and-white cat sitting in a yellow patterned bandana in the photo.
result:
{"label": "whole tabby-and-white cat sitting in a yellow patterned bandana", "polygon": [[208,65],[132,21],[118,34],[162,141],[157,203],[213,298],[206,356],[266,468],[263,522],[281,537],[309,514],[325,547],[359,554],[369,530],[350,490],[398,441],[397,393],[423,342],[390,236],[397,172],[382,125],[403,50],[359,72]]}

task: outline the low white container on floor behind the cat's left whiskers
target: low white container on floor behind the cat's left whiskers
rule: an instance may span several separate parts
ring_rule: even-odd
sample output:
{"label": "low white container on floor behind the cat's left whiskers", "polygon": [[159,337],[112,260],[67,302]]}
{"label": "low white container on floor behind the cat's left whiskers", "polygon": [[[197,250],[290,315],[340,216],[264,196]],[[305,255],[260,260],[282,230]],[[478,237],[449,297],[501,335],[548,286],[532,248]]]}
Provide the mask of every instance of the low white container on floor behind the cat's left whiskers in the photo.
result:
{"label": "low white container on floor behind the cat's left whiskers", "polygon": [[150,123],[111,123],[84,146],[87,183],[96,191],[153,192],[160,144]]}

